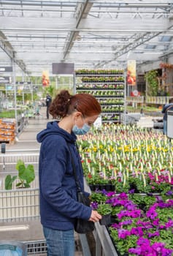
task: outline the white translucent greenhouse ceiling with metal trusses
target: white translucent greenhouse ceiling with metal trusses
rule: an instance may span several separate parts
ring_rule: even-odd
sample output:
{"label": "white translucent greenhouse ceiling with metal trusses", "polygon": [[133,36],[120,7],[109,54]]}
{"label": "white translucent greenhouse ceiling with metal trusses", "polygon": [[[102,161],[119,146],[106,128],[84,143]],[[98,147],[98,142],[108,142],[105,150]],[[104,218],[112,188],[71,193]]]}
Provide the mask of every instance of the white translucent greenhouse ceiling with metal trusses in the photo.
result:
{"label": "white translucent greenhouse ceiling with metal trusses", "polygon": [[0,0],[0,67],[19,75],[126,68],[173,53],[173,0]]}

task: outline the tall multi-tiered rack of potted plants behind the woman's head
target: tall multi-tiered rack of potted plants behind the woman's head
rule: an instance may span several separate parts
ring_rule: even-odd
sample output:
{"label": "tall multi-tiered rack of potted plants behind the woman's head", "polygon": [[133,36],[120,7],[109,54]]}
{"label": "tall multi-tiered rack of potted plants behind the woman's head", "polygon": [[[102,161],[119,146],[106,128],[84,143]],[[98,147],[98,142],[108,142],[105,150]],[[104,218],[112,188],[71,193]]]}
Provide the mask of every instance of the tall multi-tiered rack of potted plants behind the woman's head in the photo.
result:
{"label": "tall multi-tiered rack of potted plants behind the woman's head", "polygon": [[101,104],[102,122],[120,123],[125,109],[125,78],[122,69],[79,69],[76,93],[93,94]]}

